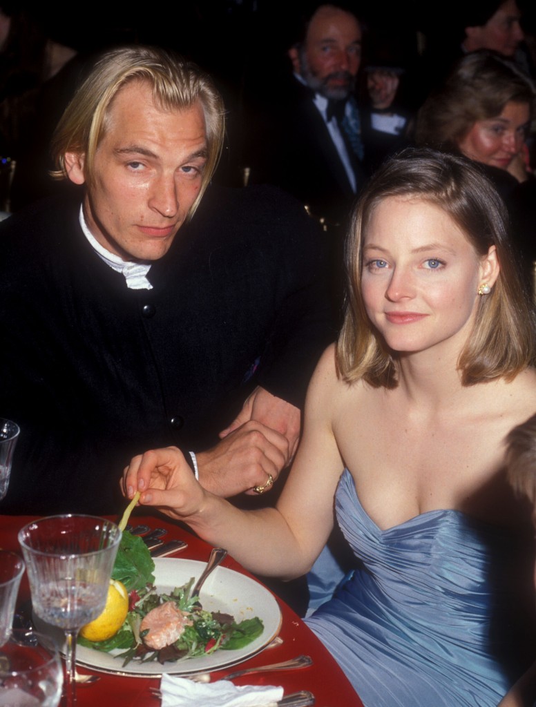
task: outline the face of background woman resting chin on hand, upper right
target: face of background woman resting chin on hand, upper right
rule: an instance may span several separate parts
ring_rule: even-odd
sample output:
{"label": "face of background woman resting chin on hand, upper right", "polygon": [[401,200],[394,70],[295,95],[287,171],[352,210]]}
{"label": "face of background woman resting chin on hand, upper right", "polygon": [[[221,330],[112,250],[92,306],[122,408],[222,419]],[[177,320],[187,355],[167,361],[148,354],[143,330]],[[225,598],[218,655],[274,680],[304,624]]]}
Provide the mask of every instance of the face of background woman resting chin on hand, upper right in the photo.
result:
{"label": "face of background woman resting chin on hand, upper right", "polygon": [[523,146],[529,119],[528,103],[507,103],[496,118],[477,120],[458,147],[472,160],[506,170]]}

